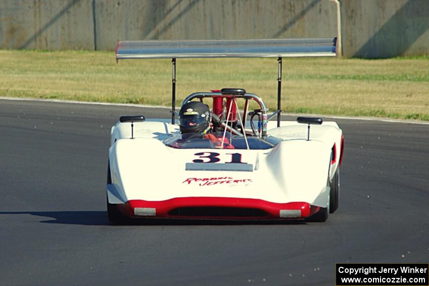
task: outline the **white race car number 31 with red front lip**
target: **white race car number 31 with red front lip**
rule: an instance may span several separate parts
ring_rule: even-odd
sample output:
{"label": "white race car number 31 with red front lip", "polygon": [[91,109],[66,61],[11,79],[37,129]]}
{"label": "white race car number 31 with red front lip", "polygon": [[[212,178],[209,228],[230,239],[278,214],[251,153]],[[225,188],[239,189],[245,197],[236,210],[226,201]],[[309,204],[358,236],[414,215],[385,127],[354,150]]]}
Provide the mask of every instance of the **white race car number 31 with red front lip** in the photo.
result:
{"label": "white race car number 31 with red front lip", "polygon": [[[159,58],[154,56],[154,50],[159,53],[153,47],[156,41],[132,42],[137,53],[129,43],[119,42],[117,58],[142,58],[142,54]],[[263,50],[259,46],[258,52]],[[303,53],[302,48],[296,50]],[[183,46],[163,52],[168,53],[166,58],[175,55],[174,60],[181,55],[204,57],[204,50],[183,56],[190,52]],[[210,53],[212,57],[213,48]],[[281,56],[293,55],[278,50],[274,54],[279,57],[280,86]],[[112,128],[107,182],[112,222],[129,218],[326,221],[338,208],[344,138],[335,122],[313,117],[281,121],[280,102],[269,116],[257,95],[224,88],[185,98],[182,106],[194,101],[211,105],[207,115],[211,120],[202,133],[184,133],[175,120],[179,115],[174,84],[175,70],[171,123],[124,116]],[[252,104],[256,108],[249,110]],[[192,114],[192,108],[185,113]],[[269,122],[276,115],[277,122]]]}

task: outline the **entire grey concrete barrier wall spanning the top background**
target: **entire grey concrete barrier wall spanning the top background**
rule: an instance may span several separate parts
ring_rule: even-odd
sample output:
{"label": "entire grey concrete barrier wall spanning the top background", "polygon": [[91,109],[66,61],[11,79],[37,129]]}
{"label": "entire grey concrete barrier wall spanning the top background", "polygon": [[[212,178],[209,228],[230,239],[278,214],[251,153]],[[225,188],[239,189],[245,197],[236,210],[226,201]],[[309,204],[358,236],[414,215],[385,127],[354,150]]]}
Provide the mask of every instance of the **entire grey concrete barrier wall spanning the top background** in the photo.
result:
{"label": "entire grey concrete barrier wall spanning the top background", "polygon": [[[429,54],[429,1],[341,0],[345,56]],[[2,0],[0,48],[113,50],[117,40],[335,37],[330,0]]]}

